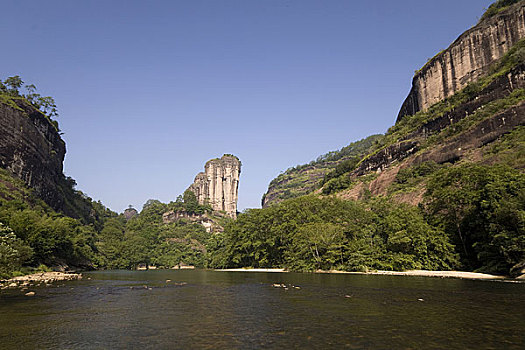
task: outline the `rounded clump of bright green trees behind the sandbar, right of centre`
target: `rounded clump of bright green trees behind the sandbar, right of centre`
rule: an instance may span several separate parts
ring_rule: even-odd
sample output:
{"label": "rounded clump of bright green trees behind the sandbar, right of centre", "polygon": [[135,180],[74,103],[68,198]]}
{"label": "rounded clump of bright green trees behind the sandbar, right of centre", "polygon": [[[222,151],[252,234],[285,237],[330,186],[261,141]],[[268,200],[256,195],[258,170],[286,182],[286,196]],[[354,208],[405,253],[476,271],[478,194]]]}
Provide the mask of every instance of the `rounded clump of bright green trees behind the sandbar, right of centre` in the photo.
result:
{"label": "rounded clump of bright green trees behind the sandbar, right of centre", "polygon": [[458,256],[417,207],[303,196],[252,209],[216,237],[210,266],[298,271],[450,269]]}

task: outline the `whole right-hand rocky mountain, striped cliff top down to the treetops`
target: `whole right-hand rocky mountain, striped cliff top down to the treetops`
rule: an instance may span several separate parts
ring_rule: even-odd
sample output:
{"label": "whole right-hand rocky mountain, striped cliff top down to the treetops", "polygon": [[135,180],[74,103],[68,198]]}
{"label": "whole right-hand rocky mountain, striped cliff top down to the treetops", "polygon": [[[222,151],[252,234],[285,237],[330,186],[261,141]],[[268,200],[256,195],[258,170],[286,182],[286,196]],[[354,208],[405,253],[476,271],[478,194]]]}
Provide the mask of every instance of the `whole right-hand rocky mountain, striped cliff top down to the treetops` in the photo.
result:
{"label": "whole right-hand rocky mountain, striped cliff top down to the treetops", "polygon": [[343,171],[337,171],[338,165],[321,174],[318,178],[324,176],[323,181],[313,187],[300,176],[303,167],[287,170],[272,181],[263,206],[287,199],[279,198],[286,194],[283,190],[309,186],[306,193],[295,193],[345,199],[392,195],[418,204],[425,177],[418,175],[417,186],[402,187],[397,179],[400,170],[472,162],[523,170],[524,125],[525,1],[501,0],[491,5],[478,25],[421,68],[396,124],[357,155],[359,161]]}

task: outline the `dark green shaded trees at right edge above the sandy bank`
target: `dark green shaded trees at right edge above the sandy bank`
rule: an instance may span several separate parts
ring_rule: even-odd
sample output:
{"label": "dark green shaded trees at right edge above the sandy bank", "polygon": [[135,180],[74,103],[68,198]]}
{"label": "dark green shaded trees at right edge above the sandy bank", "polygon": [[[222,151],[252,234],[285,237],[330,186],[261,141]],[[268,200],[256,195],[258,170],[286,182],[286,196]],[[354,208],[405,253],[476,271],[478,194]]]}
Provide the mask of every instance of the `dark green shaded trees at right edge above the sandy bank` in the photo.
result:
{"label": "dark green shaded trees at right edge above the sandy bank", "polygon": [[467,268],[508,273],[525,260],[525,174],[507,166],[462,165],[428,182],[426,211],[461,247]]}

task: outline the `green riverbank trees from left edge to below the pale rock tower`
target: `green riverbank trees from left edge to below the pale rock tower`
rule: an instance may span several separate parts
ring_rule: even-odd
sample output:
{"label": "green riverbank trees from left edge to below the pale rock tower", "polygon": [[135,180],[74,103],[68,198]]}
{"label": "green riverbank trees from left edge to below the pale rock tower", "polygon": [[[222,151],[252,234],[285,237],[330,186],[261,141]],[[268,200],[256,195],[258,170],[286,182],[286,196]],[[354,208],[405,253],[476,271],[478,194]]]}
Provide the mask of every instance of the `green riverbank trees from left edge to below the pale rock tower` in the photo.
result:
{"label": "green riverbank trees from left edge to below the pale rock tower", "polygon": [[74,180],[68,183],[69,191],[75,193],[69,200],[78,202],[75,207],[81,209],[88,206],[90,215],[74,219],[55,212],[21,180],[0,169],[0,278],[48,268],[207,265],[206,245],[211,233],[190,219],[162,220],[170,210],[209,214],[210,206],[200,205],[193,192],[186,191],[169,204],[149,200],[139,215],[126,220],[74,190]]}

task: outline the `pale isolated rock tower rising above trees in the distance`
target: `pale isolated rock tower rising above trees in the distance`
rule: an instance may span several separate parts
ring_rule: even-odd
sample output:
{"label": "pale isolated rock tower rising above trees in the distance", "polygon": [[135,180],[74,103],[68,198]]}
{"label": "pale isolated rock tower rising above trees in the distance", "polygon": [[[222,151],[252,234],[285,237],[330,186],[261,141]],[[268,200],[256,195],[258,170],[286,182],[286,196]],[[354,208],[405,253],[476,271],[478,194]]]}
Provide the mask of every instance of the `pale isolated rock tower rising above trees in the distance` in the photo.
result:
{"label": "pale isolated rock tower rising above trees in the distance", "polygon": [[204,172],[197,174],[189,190],[195,193],[199,204],[208,203],[215,211],[237,216],[237,199],[241,162],[235,156],[224,155],[209,160]]}

